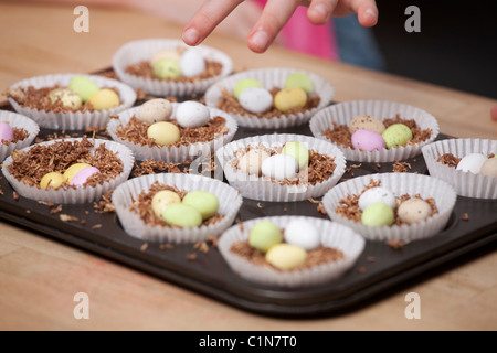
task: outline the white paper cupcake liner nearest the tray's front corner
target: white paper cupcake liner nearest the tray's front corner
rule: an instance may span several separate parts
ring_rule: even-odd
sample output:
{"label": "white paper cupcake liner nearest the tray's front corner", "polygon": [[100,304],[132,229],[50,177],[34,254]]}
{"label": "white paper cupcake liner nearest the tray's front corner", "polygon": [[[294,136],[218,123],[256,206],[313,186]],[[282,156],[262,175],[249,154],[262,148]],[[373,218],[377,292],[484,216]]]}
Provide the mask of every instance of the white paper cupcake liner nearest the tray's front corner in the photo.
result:
{"label": "white paper cupcake liner nearest the tray's front corner", "polygon": [[[284,228],[295,218],[311,223],[319,231],[321,245],[341,250],[345,255],[343,258],[303,270],[282,271],[272,267],[257,266],[230,250],[234,243],[246,242],[251,228],[258,222],[271,221]],[[316,217],[275,216],[246,221],[243,223],[243,231],[240,225],[232,226],[220,237],[218,248],[230,268],[241,277],[263,285],[295,288],[324,284],[339,278],[356,264],[362,254],[364,243],[364,239],[352,229],[335,222]]]}

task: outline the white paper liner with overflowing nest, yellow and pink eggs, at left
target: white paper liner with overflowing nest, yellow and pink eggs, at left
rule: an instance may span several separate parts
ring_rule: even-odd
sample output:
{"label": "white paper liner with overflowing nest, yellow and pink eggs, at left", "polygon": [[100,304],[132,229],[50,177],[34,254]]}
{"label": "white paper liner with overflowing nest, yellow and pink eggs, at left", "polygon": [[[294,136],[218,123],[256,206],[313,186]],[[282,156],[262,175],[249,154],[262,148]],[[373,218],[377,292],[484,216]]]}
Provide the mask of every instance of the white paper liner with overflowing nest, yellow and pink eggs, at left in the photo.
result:
{"label": "white paper liner with overflowing nest, yellow and pink eggs, at left", "polygon": [[[66,142],[73,142],[73,141],[81,141],[82,139],[65,139]],[[46,146],[52,145],[55,142],[60,142],[61,140],[52,140],[47,142],[42,142],[40,145]],[[114,142],[114,141],[107,141],[107,140],[91,140],[94,142],[94,148],[92,148],[92,151],[94,151],[98,146],[102,143],[105,143],[105,148],[107,150],[110,150],[117,154],[118,158],[123,161],[123,172],[117,175],[115,179],[103,183],[102,185],[96,186],[85,186],[85,188],[77,188],[77,189],[39,189],[36,186],[30,186],[28,184],[24,184],[23,182],[17,180],[10,172],[9,172],[9,165],[12,163],[12,157],[9,157],[2,165],[2,173],[6,176],[6,179],[9,181],[9,183],[12,185],[12,188],[19,193],[19,195],[36,200],[36,201],[44,201],[44,202],[53,202],[53,203],[64,203],[64,204],[81,204],[81,203],[87,203],[97,201],[101,199],[102,195],[107,193],[109,190],[116,188],[120,183],[125,182],[129,173],[131,172],[131,169],[135,163],[135,158],[133,157],[131,150],[129,150],[126,146],[123,146],[120,143]],[[36,145],[33,145],[36,146]],[[24,148],[23,151],[28,151],[33,146],[30,146],[28,148]]]}

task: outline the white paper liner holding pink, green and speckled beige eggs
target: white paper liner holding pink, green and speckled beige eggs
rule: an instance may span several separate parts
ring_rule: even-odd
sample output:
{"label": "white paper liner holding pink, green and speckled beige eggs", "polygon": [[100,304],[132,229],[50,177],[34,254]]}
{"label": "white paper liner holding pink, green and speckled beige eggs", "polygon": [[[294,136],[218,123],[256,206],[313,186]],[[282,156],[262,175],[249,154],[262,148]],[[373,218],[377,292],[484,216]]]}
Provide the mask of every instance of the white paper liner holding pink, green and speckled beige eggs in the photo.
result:
{"label": "white paper liner holding pink, green and speckled beige eggs", "polygon": [[382,151],[360,151],[337,146],[343,151],[346,159],[349,161],[369,163],[403,161],[421,154],[421,148],[434,141],[440,132],[436,119],[430,113],[420,108],[383,100],[345,101],[320,110],[310,119],[309,127],[315,137],[329,141],[325,136],[325,131],[328,128],[334,129],[332,122],[349,126],[350,121],[358,115],[370,115],[379,120],[384,120],[395,118],[398,114],[402,119],[414,119],[421,130],[432,129],[430,139],[419,145],[408,145],[405,147],[383,149]]}

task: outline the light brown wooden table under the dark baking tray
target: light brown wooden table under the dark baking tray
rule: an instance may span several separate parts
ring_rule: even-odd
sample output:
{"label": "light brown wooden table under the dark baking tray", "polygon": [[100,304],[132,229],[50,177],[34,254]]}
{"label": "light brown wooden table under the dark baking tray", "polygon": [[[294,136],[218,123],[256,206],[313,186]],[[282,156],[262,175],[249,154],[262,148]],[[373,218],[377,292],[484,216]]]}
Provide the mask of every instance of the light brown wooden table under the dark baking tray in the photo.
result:
{"label": "light brown wooden table under the dark baking tray", "polygon": [[[0,89],[52,73],[110,66],[124,43],[179,38],[181,26],[142,13],[91,9],[89,33],[75,33],[73,8],[0,3]],[[288,53],[251,53],[243,41],[214,34],[205,44],[232,56],[235,69],[305,68],[336,87],[336,100],[385,99],[431,111],[441,131],[496,138],[497,100]],[[237,310],[126,266],[0,223],[0,329],[3,330],[496,330],[497,252],[431,274],[346,314],[282,320]],[[76,292],[91,299],[89,320],[75,320]],[[408,320],[404,297],[421,297],[421,320]]]}

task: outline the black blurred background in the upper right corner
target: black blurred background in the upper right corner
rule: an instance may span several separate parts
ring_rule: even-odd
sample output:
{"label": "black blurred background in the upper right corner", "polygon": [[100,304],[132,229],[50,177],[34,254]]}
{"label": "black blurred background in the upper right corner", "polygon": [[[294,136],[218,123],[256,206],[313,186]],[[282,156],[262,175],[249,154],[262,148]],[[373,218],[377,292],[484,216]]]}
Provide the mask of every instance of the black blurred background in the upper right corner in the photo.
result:
{"label": "black blurred background in the upper right corner", "polygon": [[[385,71],[497,98],[496,0],[377,0],[373,28]],[[409,6],[421,10],[421,32],[404,30]]]}

